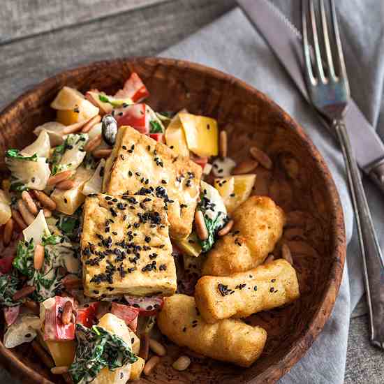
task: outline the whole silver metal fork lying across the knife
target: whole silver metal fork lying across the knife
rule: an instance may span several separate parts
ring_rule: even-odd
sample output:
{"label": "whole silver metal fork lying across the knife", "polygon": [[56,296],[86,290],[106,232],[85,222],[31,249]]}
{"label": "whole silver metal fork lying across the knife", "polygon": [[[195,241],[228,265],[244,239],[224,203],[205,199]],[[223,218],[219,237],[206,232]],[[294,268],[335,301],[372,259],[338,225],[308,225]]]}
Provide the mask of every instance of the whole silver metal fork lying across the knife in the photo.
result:
{"label": "whole silver metal fork lying across the knife", "polygon": [[[313,0],[302,0],[303,48],[306,66],[304,72],[311,101],[322,115],[332,121],[332,128],[337,133],[344,155],[363,256],[371,343],[384,349],[384,262],[362,186],[360,171],[344,124],[344,112],[348,106],[350,92],[334,0],[329,0],[329,8],[330,12],[327,12],[324,0],[318,0],[316,13]],[[330,14],[329,17],[327,13]],[[317,18],[316,15],[318,15]],[[309,22],[307,22],[308,18]],[[316,19],[320,20],[320,28]],[[330,20],[330,29],[328,20]],[[313,45],[309,43],[310,36],[312,36]],[[319,36],[322,38],[322,45],[320,45]]]}

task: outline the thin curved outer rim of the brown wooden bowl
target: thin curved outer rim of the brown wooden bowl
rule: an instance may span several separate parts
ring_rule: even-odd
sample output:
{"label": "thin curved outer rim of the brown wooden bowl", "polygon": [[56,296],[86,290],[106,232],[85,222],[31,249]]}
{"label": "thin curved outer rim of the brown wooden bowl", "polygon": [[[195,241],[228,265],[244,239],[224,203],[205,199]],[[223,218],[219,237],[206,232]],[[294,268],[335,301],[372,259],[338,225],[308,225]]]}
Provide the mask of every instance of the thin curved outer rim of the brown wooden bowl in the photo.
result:
{"label": "thin curved outer rim of the brown wooden bowl", "polygon": [[[245,89],[248,92],[256,94],[258,98],[263,99],[265,102],[272,105],[272,107],[279,112],[279,115],[283,117],[283,120],[286,125],[290,126],[290,128],[297,133],[302,139],[302,144],[307,147],[309,154],[313,157],[314,161],[318,165],[318,168],[321,170],[322,177],[324,179],[325,190],[329,194],[330,202],[331,202],[331,211],[332,215],[332,223],[330,228],[330,233],[332,236],[330,237],[330,244],[332,248],[332,254],[330,254],[330,258],[332,261],[332,266],[330,269],[329,279],[327,281],[327,287],[323,292],[323,295],[320,300],[320,307],[316,310],[311,318],[310,323],[307,325],[305,330],[302,332],[300,337],[295,341],[292,346],[290,346],[288,352],[279,360],[279,362],[275,364],[269,365],[265,371],[263,371],[260,375],[257,376],[257,381],[260,383],[263,380],[271,379],[278,380],[286,374],[290,369],[307,353],[307,350],[313,344],[318,334],[323,330],[325,323],[327,322],[330,314],[332,313],[332,309],[334,307],[334,302],[337,298],[337,293],[339,292],[339,287],[341,284],[341,279],[343,275],[344,262],[346,258],[346,233],[344,227],[344,216],[343,210],[341,207],[341,202],[339,198],[339,193],[337,192],[337,188],[334,184],[334,180],[330,173],[330,170],[325,163],[323,156],[320,154],[318,149],[315,147],[307,133],[304,132],[304,129],[298,124],[286,111],[283,110],[276,102],[270,99],[267,95],[265,95],[262,91],[259,91],[255,87],[247,84],[246,82],[239,80],[237,77],[230,75],[228,73],[224,73],[215,68],[211,68],[209,66],[205,66],[202,64],[194,63],[187,60],[182,59],[169,59],[165,57],[152,57],[152,56],[140,56],[140,57],[122,57],[118,59],[110,59],[110,60],[101,60],[101,61],[92,61],[88,64],[84,64],[82,66],[76,66],[74,68],[67,69],[65,71],[61,71],[56,75],[48,77],[47,79],[35,84],[33,87],[24,91],[23,94],[18,96],[14,101],[6,105],[3,110],[0,111],[0,124],[1,120],[5,118],[6,115],[11,114],[13,110],[17,108],[17,105],[22,103],[29,98],[29,96],[36,94],[36,91],[39,89],[44,89],[47,86],[53,86],[57,84],[57,80],[60,77],[66,75],[76,75],[76,73],[82,73],[83,71],[89,71],[89,68],[96,69],[98,66],[114,66],[119,64],[139,64],[142,61],[152,61],[154,63],[165,65],[165,66],[182,66],[184,68],[191,69],[196,72],[204,72],[212,77],[219,78],[219,80],[229,81],[232,84],[237,85]],[[21,377],[29,378],[29,380],[33,380],[36,383],[52,383],[52,381],[48,380],[44,376],[40,375],[37,371],[34,371],[27,364],[24,364],[21,360],[17,359],[8,348],[3,346],[2,341],[0,341],[0,357],[1,360],[6,362],[7,367],[10,371],[19,372]],[[17,374],[17,376],[19,376]],[[249,383],[254,380],[250,379],[244,383]],[[54,383],[52,383],[54,384]]]}

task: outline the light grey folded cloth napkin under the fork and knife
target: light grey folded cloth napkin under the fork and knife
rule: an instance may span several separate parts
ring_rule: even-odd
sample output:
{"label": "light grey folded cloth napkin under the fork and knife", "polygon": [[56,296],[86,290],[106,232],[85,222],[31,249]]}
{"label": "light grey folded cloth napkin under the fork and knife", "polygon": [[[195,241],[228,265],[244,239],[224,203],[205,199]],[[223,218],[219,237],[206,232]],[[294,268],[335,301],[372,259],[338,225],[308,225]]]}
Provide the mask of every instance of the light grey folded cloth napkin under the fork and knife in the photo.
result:
{"label": "light grey folded cloth napkin under the fork and knife", "polygon": [[[256,1],[256,0],[255,0]],[[269,1],[269,0],[258,0]],[[256,1],[257,2],[257,1]],[[270,6],[301,29],[300,1],[271,1]],[[376,0],[337,2],[341,36],[353,98],[383,138],[383,6]],[[382,12],[380,12],[380,10]],[[289,21],[291,20],[291,21]],[[230,73],[253,85],[294,117],[323,154],[341,198],[348,240],[348,263],[332,316],[309,352],[279,383],[343,383],[350,312],[364,292],[362,262],[353,230],[353,209],[346,184],[344,161],[337,143],[318,121],[268,45],[239,8],[161,52],[163,57],[186,59]],[[384,111],[384,108],[383,108]],[[381,128],[380,128],[381,127]],[[369,149],[368,149],[369,150]],[[383,196],[365,183],[374,223],[384,245]],[[348,264],[348,265],[347,265]]]}

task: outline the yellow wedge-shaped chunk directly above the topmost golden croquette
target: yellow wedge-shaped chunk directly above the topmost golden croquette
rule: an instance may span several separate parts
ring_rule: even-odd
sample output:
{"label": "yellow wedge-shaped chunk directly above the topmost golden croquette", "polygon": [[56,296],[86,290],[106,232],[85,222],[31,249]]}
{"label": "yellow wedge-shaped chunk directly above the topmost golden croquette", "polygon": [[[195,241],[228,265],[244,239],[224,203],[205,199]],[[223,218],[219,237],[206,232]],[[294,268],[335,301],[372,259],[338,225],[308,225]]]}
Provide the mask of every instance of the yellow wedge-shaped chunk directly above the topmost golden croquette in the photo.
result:
{"label": "yellow wedge-shaped chunk directly above the topmost golden croquette", "polygon": [[224,204],[231,214],[252,193],[256,175],[236,175],[215,179],[214,186],[224,200]]}

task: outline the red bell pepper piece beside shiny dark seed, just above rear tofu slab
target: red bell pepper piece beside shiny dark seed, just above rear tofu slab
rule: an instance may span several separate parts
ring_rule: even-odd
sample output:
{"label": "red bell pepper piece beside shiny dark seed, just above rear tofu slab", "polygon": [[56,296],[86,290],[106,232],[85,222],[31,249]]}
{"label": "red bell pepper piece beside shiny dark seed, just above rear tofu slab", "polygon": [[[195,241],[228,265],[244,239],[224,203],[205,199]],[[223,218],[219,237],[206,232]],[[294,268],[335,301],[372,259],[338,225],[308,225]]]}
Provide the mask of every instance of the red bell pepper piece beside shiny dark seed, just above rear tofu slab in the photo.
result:
{"label": "red bell pepper piece beside shiny dark seed, just above rear tofu slab", "polygon": [[132,126],[140,133],[149,133],[149,116],[145,104],[134,104],[115,110],[117,126]]}

